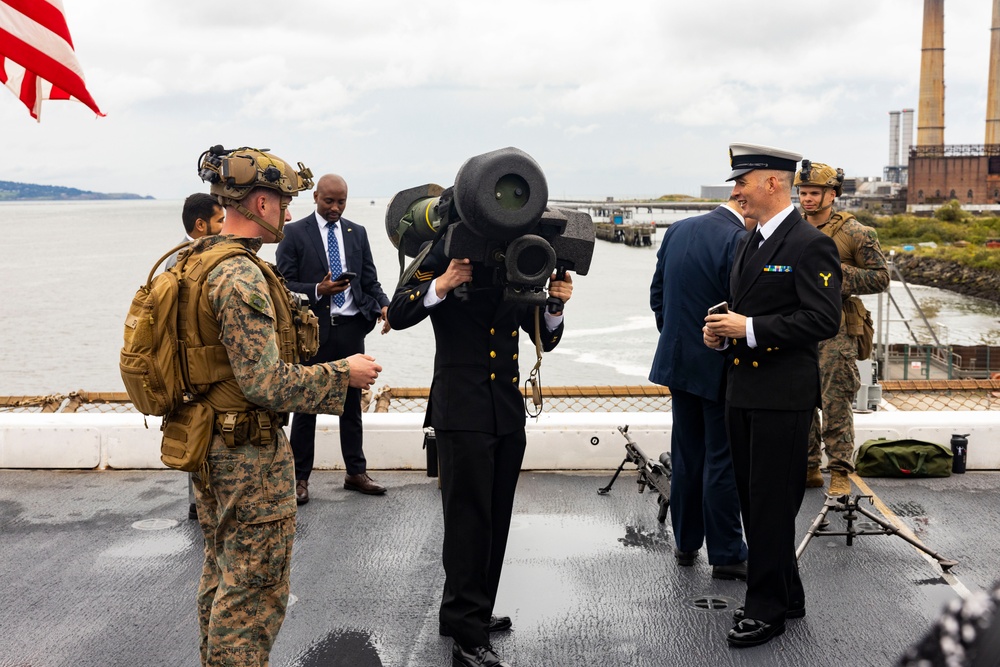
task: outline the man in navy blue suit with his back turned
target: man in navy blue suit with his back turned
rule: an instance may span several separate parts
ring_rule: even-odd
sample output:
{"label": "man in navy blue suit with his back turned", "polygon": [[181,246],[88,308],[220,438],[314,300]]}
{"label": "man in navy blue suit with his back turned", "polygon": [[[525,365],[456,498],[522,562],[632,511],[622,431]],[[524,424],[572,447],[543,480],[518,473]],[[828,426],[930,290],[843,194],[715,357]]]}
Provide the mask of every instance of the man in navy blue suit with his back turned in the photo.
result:
{"label": "man in navy blue suit with his back turned", "polygon": [[746,221],[734,199],[673,223],[656,255],[649,305],[660,340],[650,382],[670,388],[670,521],[674,556],[693,565],[702,542],[715,579],[746,579],[747,547],[726,437],[725,358],[702,343],[705,313],[729,297]]}

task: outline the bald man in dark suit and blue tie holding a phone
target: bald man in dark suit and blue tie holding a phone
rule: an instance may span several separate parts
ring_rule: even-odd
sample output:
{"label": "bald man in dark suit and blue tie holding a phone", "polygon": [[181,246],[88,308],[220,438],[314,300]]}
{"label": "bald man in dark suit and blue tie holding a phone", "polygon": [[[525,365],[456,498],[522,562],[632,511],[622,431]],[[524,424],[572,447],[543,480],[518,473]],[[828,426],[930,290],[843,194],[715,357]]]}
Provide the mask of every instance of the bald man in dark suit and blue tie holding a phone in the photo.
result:
{"label": "bald man in dark suit and blue tie holding a phone", "polygon": [[[288,288],[309,297],[319,318],[319,351],[310,364],[364,352],[365,336],[376,322],[384,322],[383,334],[389,331],[389,298],[378,282],[368,232],[341,217],[347,207],[347,183],[336,174],[327,174],[317,182],[313,199],[316,212],[286,225],[277,250],[278,269]],[[362,441],[361,390],[350,388],[340,417],[340,451],[347,469],[344,488],[383,494],[385,487],[368,476]],[[316,451],[316,415],[295,413],[291,442],[295,499],[304,505],[309,502],[309,475]]]}

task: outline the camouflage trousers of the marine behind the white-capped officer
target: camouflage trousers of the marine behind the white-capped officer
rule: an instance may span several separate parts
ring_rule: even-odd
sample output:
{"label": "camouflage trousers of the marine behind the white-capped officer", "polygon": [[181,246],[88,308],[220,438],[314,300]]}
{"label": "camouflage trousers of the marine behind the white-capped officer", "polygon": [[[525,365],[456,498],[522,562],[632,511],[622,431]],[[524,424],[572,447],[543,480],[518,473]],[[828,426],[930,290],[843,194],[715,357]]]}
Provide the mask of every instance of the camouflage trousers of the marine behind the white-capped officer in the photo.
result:
{"label": "camouflage trousers of the marine behind the white-capped officer", "polygon": [[841,324],[836,336],[819,344],[819,377],[823,416],[813,415],[809,433],[809,467],[820,465],[825,446],[831,469],[854,471],[854,411],[851,405],[861,388],[857,366],[858,343]]}

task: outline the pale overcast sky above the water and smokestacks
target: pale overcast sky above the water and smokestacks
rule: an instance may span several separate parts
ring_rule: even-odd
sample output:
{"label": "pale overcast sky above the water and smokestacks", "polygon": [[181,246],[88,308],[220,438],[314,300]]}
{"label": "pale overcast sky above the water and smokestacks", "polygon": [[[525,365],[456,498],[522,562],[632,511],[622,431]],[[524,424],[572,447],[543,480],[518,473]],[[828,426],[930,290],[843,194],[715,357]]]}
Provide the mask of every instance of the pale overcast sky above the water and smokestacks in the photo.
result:
{"label": "pale overcast sky above the water and smokestacks", "polygon": [[[945,3],[945,141],[984,140],[990,0]],[[881,175],[916,109],[923,2],[63,0],[107,114],[0,89],[0,179],[181,198],[213,144],[353,196],[516,146],[553,197],[698,195],[731,141]],[[918,120],[919,122],[919,120]]]}

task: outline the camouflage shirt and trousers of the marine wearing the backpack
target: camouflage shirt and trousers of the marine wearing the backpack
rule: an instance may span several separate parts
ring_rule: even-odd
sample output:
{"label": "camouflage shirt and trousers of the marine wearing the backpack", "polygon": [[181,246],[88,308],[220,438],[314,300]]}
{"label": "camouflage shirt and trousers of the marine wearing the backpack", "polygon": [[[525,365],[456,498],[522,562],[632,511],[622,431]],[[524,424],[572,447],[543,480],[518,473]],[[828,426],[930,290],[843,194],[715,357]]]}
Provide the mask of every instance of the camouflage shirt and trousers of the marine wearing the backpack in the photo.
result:
{"label": "camouflage shirt and trousers of the marine wearing the backpack", "polygon": [[[254,252],[261,245],[259,239],[208,237],[195,244],[192,256],[223,243],[241,243]],[[252,260],[223,260],[209,274],[206,288],[220,340],[249,402],[274,412],[343,411],[348,362],[309,367],[281,362],[268,285]],[[261,442],[259,424],[252,419],[236,425],[232,446],[216,429],[208,479],[198,475],[195,486],[205,535],[198,616],[206,665],[266,664],[288,603],[296,509],[293,458],[277,422],[271,438]]]}

